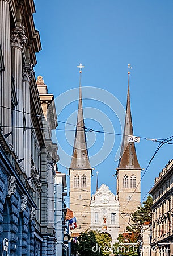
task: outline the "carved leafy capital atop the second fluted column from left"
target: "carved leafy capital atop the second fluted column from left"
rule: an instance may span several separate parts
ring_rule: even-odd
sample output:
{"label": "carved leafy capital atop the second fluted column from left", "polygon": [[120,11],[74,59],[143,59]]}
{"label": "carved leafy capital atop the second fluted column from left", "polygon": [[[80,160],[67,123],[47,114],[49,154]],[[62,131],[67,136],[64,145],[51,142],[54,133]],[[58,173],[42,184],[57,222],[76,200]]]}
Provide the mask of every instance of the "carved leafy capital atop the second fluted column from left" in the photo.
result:
{"label": "carved leafy capital atop the second fluted column from left", "polygon": [[16,27],[11,29],[11,46],[22,49],[27,42],[27,37],[24,32],[24,27]]}

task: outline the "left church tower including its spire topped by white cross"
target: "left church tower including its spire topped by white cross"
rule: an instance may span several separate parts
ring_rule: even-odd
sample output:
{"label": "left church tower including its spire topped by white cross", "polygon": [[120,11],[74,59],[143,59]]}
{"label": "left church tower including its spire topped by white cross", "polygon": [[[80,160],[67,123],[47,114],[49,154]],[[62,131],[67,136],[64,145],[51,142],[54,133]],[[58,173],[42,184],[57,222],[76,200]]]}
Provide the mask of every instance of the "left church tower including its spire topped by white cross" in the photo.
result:
{"label": "left church tower including its spire topped by white cross", "polygon": [[81,74],[82,64],[80,68],[80,82],[79,82],[79,103],[77,125],[75,129],[75,139],[71,164],[69,168],[70,174],[70,209],[73,210],[73,215],[77,219],[77,228],[73,233],[81,233],[90,228],[90,202],[91,202],[91,173],[85,124],[83,119],[82,108],[82,89],[81,89]]}

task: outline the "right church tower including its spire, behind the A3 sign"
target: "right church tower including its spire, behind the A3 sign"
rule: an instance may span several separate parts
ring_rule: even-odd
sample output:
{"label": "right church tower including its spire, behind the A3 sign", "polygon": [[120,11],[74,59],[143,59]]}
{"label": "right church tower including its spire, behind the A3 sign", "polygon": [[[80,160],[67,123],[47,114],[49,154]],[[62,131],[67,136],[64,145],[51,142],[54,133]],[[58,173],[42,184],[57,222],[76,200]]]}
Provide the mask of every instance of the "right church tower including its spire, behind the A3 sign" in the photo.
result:
{"label": "right church tower including its spire, behind the A3 sign", "polygon": [[126,116],[121,146],[121,157],[117,167],[117,195],[119,197],[119,233],[126,232],[126,227],[132,224],[132,213],[135,212],[141,201],[141,167],[138,163],[134,142],[129,142],[133,136],[132,114],[130,108],[130,86],[128,72],[128,96]]}

